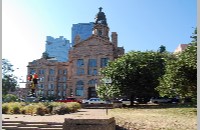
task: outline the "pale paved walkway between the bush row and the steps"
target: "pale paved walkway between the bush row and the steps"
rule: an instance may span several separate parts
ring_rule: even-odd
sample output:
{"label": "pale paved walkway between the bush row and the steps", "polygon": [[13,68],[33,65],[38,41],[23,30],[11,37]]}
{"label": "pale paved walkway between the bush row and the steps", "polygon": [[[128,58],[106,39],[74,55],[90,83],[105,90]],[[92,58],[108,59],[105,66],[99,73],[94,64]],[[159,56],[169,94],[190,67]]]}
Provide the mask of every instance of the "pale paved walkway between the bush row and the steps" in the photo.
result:
{"label": "pale paved walkway between the bush row and the steps", "polygon": [[109,116],[106,115],[106,109],[80,109],[76,113],[65,115],[48,115],[48,116],[32,116],[23,114],[2,114],[3,121],[28,121],[28,122],[59,122],[63,123],[65,118],[79,118],[79,119],[105,119]]}

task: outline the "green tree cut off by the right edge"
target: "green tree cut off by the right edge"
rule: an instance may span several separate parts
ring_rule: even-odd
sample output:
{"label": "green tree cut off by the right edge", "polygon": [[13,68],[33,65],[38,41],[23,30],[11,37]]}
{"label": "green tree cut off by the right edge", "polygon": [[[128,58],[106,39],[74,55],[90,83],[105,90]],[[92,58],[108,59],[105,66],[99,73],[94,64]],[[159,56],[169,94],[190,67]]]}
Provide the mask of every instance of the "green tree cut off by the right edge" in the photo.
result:
{"label": "green tree cut off by the right edge", "polygon": [[156,88],[161,95],[197,99],[197,43],[189,44],[186,50],[178,54],[176,60],[168,61],[166,73]]}

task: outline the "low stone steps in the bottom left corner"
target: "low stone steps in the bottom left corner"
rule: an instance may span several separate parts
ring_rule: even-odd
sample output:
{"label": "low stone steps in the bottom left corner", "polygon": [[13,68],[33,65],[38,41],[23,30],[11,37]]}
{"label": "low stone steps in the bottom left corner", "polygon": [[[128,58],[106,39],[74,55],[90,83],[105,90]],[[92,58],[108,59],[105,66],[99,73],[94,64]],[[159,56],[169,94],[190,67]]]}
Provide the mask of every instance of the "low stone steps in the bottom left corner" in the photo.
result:
{"label": "low stone steps in the bottom left corner", "polygon": [[63,123],[2,121],[4,130],[62,130]]}

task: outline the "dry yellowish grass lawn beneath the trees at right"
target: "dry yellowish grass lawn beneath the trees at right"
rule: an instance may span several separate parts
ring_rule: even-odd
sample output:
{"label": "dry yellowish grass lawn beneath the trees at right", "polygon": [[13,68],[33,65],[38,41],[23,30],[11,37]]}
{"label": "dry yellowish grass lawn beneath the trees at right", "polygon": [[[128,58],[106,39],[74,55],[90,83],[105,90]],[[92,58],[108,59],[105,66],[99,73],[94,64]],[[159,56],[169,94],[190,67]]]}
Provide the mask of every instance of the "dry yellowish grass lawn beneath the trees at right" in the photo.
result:
{"label": "dry yellowish grass lawn beneath the trees at right", "polygon": [[197,108],[194,107],[138,105],[110,109],[108,113],[115,117],[122,130],[197,130]]}

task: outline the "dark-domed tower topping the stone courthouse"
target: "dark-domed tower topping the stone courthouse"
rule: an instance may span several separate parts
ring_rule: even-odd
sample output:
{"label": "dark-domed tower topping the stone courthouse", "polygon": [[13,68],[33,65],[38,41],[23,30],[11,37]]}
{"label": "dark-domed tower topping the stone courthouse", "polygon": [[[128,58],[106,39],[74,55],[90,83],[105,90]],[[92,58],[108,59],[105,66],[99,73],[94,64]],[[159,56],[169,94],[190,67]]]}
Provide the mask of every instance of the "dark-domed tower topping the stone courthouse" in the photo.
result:
{"label": "dark-domed tower topping the stone courthouse", "polygon": [[107,24],[106,15],[104,12],[102,12],[102,7],[100,7],[95,18],[93,34],[109,40],[108,33],[109,27]]}

